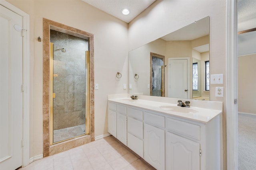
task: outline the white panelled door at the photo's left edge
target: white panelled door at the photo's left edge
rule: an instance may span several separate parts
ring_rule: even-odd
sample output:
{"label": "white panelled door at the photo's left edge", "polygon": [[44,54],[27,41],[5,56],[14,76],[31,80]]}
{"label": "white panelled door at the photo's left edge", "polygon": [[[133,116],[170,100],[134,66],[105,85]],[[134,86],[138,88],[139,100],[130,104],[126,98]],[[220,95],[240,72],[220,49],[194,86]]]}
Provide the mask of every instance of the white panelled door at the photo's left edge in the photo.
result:
{"label": "white panelled door at the photo's left edge", "polygon": [[22,17],[0,5],[0,169],[22,166]]}

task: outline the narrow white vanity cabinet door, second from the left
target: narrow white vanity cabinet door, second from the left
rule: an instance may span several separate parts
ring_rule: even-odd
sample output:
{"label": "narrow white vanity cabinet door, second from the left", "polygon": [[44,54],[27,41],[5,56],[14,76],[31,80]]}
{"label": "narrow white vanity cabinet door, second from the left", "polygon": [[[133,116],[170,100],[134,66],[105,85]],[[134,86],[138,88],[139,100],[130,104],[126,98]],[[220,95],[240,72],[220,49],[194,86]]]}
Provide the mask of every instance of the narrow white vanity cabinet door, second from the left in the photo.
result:
{"label": "narrow white vanity cabinet door, second from the left", "polygon": [[117,113],[117,129],[116,136],[119,141],[121,141],[124,145],[127,145],[127,117],[126,115],[122,115]]}

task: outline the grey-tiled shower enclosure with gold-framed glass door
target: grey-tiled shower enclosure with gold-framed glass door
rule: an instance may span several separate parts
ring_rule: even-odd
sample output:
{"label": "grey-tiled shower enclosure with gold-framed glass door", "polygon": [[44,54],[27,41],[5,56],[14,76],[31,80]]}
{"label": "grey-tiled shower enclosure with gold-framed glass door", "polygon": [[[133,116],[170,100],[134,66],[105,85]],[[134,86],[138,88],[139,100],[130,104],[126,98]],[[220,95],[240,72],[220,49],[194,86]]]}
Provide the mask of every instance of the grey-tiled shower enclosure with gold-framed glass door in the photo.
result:
{"label": "grey-tiled shower enclosure with gold-framed glass door", "polygon": [[86,135],[88,40],[50,29],[52,144]]}

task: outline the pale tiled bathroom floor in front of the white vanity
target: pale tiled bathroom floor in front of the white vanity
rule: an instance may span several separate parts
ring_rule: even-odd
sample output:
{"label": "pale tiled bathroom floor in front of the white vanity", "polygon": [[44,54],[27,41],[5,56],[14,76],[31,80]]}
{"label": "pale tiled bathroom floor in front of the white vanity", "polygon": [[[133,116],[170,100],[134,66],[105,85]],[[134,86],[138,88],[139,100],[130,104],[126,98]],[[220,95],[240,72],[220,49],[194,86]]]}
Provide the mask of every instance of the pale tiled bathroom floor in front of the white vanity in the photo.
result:
{"label": "pale tiled bathroom floor in front of the white vanity", "polygon": [[19,170],[155,170],[109,136],[36,160]]}

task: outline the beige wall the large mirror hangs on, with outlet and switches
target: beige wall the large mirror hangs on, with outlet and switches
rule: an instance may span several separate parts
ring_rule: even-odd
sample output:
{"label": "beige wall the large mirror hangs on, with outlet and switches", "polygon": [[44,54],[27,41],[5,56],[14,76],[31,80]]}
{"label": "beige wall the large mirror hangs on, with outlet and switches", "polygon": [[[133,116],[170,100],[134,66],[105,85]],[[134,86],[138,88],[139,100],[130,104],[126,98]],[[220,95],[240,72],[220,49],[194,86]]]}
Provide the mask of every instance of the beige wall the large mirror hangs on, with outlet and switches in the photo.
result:
{"label": "beige wall the large mirror hangs on, with outlet and switches", "polygon": [[162,0],[156,1],[129,23],[129,51],[154,39],[176,31],[194,21],[210,16],[210,74],[223,74],[224,84],[211,84],[210,89],[224,86],[223,111],[224,169],[226,169],[226,0]]}

